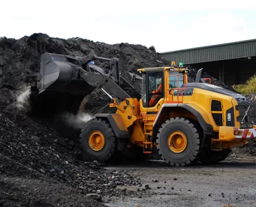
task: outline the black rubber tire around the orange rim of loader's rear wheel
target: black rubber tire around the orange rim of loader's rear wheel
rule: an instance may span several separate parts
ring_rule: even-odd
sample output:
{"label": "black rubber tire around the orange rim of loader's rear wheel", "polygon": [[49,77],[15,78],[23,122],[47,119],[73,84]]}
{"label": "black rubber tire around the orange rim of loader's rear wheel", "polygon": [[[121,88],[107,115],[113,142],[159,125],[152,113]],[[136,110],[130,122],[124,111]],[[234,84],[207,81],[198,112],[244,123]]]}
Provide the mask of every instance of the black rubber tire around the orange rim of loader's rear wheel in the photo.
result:
{"label": "black rubber tire around the orange rim of loader's rear wheel", "polygon": [[[176,132],[182,132],[187,141],[185,149],[181,152],[174,152],[168,143],[170,135]],[[198,161],[201,138],[194,124],[188,119],[176,117],[165,121],[159,128],[157,138],[158,153],[171,166],[187,166]]]}

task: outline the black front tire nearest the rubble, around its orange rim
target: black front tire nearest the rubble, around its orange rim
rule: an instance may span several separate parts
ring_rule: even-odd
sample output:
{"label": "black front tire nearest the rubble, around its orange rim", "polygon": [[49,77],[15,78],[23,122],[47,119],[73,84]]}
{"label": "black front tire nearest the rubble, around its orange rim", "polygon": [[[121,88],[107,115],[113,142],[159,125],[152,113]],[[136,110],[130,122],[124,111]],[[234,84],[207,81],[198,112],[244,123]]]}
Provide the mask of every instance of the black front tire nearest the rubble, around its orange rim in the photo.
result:
{"label": "black front tire nearest the rubble, around its orange rim", "polygon": [[[104,136],[104,145],[100,150],[93,150],[89,144],[89,137],[93,132],[101,132]],[[111,126],[102,119],[91,119],[81,130],[80,144],[82,159],[86,161],[105,162],[111,158],[116,150],[116,137]]]}

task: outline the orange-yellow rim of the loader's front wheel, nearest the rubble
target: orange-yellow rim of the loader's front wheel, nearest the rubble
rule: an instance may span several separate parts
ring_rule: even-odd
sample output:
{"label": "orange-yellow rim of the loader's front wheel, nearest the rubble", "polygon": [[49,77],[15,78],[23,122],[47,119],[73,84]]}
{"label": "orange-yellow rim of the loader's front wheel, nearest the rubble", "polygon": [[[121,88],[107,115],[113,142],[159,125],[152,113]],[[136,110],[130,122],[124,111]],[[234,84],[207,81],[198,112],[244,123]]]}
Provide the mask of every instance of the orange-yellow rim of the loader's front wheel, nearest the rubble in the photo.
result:
{"label": "orange-yellow rim of the loader's front wheel, nearest the rubble", "polygon": [[100,151],[105,144],[104,135],[100,131],[93,131],[89,136],[89,146],[94,151]]}

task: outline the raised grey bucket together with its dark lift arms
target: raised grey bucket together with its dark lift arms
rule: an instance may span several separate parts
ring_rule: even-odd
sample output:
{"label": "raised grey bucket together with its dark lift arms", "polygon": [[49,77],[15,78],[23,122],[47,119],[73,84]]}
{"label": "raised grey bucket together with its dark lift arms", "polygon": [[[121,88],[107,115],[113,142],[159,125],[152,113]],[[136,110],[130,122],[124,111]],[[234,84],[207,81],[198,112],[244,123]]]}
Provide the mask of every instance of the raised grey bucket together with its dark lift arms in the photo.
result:
{"label": "raised grey bucket together with its dark lift arms", "polygon": [[[90,64],[95,59],[109,61],[109,72]],[[37,75],[39,94],[45,90],[69,93],[72,95],[89,95],[95,88],[103,88],[118,99],[140,98],[140,92],[119,75],[119,60],[116,58],[71,57],[44,53],[41,57],[40,73]],[[128,91],[125,91],[125,89]]]}

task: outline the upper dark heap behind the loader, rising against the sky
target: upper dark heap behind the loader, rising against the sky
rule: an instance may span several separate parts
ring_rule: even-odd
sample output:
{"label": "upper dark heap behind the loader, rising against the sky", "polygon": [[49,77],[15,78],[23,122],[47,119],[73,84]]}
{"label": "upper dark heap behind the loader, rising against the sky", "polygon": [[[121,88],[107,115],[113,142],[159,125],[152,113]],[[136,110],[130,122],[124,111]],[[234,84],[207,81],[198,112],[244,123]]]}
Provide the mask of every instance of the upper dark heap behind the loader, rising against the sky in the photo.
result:
{"label": "upper dark heap behind the loader, rising against the sky", "polygon": [[[21,39],[0,39],[0,104],[12,102],[8,96],[10,90],[17,90],[23,83],[27,75],[36,75],[39,72],[40,58],[44,52],[57,53],[61,55],[71,55],[84,57],[94,54],[99,57],[117,57],[120,60],[120,75],[127,81],[131,80],[129,72],[136,72],[138,68],[170,66],[171,62],[166,61],[152,48],[128,43],[109,45],[98,43],[87,39],[57,39],[48,37],[46,34],[33,34],[30,37]],[[107,63],[95,61],[95,63],[107,70]],[[196,70],[191,70],[189,81],[194,81]],[[208,75],[203,75],[208,77]],[[217,86],[225,86],[220,81],[213,79]],[[133,85],[140,90],[140,80]],[[232,89],[232,87],[229,87]],[[101,91],[95,91],[89,95],[86,109],[90,111],[98,110],[107,103],[108,98]]]}

